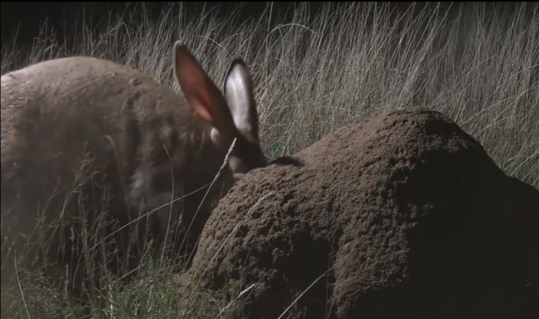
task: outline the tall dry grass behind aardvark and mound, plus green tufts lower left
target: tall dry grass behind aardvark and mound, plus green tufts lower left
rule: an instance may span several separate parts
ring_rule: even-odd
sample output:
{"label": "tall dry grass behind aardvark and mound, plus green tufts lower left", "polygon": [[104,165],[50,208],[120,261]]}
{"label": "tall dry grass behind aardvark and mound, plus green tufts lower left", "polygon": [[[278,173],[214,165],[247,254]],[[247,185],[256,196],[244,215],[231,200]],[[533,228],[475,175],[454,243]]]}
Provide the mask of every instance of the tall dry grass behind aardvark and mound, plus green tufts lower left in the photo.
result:
{"label": "tall dry grass behind aardvark and mound, plus green tufts lower left", "polygon": [[[153,21],[142,10],[129,21],[110,17],[98,34],[86,26],[69,46],[46,29],[31,52],[4,46],[1,71],[81,54],[131,65],[175,88],[171,47],[182,40],[218,83],[232,57],[247,61],[270,157],[294,154],[381,110],[426,106],[478,139],[508,175],[539,187],[538,5],[486,11],[475,4],[451,18],[431,9],[396,13],[350,3],[309,18],[306,6],[299,6],[286,24],[269,22],[268,15],[240,24],[237,16],[219,19],[211,12],[188,19],[181,5]],[[190,317],[170,302],[175,292],[162,272],[148,271],[147,280],[128,287],[112,282],[109,293],[120,306],[99,304],[86,316]],[[155,280],[148,288],[150,278]],[[39,292],[29,307],[33,314],[75,317],[77,307],[52,307],[56,299]],[[20,301],[13,309],[23,309],[17,306]]]}

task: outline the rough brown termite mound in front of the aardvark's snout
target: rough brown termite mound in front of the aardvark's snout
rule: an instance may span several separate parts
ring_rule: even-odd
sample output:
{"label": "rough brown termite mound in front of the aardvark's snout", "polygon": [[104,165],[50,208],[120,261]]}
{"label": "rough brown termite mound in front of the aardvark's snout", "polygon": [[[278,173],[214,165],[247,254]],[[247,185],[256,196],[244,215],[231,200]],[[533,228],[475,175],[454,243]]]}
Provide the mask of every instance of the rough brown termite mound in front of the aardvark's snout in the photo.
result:
{"label": "rough brown termite mound in front of the aardvark's snout", "polygon": [[[213,211],[186,289],[252,318],[519,317],[537,288],[539,191],[444,115],[396,110],[248,174]],[[315,283],[314,283],[315,282]],[[310,285],[314,285],[310,287]]]}

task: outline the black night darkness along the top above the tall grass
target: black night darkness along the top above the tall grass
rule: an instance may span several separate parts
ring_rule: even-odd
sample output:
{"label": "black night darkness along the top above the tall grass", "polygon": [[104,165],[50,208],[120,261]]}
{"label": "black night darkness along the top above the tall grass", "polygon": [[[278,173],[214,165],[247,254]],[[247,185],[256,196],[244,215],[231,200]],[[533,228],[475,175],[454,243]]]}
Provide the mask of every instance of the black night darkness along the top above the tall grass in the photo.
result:
{"label": "black night darkness along the top above the tall grass", "polygon": [[[392,10],[402,11],[412,4],[412,2],[389,2]],[[153,2],[151,4],[150,18],[157,19],[160,12],[164,8],[165,2]],[[230,10],[238,10],[240,20],[257,17],[264,13],[266,8],[264,2],[197,2],[197,3],[182,3],[188,10],[189,17],[195,17],[200,14],[203,6],[206,9],[215,9],[219,5],[218,14],[224,18]],[[272,17],[291,16],[294,5],[298,2],[280,2],[273,3]],[[342,3],[341,3],[342,4]],[[416,8],[419,10],[422,6],[427,5],[429,8],[434,8],[436,3],[418,2]],[[462,6],[466,8],[465,2],[441,2],[443,8],[450,8],[450,12],[456,12]],[[1,3],[1,44],[10,43],[15,34],[17,34],[18,44],[31,44],[33,39],[39,34],[40,24],[47,20],[47,25],[58,34],[70,36],[70,32],[74,30],[73,23],[81,23],[83,17],[86,22],[91,20],[95,25],[100,19],[108,17],[109,13],[114,15],[129,16],[130,12],[137,10],[140,4],[134,2],[2,2]],[[331,6],[335,8],[340,3],[333,3]],[[508,2],[486,3],[486,10],[507,9],[511,8],[512,4]],[[309,3],[310,15],[315,15],[322,8],[322,3]],[[61,37],[60,37],[61,39]]]}

